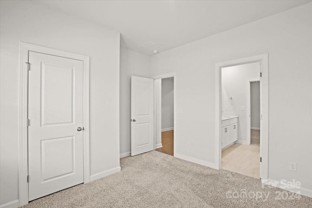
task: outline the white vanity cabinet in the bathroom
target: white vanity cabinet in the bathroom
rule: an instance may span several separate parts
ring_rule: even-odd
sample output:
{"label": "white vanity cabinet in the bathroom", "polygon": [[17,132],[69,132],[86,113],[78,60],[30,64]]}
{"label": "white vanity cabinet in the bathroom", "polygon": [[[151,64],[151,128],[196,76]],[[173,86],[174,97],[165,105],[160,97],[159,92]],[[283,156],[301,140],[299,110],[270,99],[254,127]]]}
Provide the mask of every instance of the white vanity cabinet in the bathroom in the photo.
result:
{"label": "white vanity cabinet in the bathroom", "polygon": [[224,149],[238,139],[237,117],[222,117],[221,124],[221,149]]}

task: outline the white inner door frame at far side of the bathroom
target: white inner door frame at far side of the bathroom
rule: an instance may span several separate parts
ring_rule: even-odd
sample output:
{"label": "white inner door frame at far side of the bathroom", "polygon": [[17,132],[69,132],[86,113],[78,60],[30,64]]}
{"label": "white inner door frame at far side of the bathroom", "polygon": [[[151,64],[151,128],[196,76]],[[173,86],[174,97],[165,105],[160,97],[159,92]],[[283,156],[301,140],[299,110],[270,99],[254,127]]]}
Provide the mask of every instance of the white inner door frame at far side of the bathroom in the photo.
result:
{"label": "white inner door frame at far side of the bathroom", "polygon": [[[250,96],[250,84],[251,82],[260,82],[260,78],[256,77],[256,78],[247,78],[246,79],[246,136],[247,136],[247,144],[250,145],[251,144],[251,136],[250,136],[250,130],[251,130],[251,96]],[[262,97],[261,97],[261,89],[260,89],[260,105],[262,103]],[[261,106],[260,106],[261,108]],[[261,113],[261,111],[260,111]],[[262,135],[262,134],[260,134]],[[261,139],[260,139],[261,141]],[[261,145],[261,143],[260,143]]]}

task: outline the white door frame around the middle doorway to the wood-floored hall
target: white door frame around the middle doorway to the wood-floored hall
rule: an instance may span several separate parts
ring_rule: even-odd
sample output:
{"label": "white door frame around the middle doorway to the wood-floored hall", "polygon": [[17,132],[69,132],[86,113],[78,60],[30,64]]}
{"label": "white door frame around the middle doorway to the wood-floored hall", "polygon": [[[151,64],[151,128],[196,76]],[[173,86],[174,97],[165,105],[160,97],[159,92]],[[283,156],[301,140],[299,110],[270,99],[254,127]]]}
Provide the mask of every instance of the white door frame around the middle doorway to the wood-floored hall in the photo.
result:
{"label": "white door frame around the middle doorway to the wood-floored hall", "polygon": [[[162,75],[156,75],[151,76],[152,79],[163,79],[163,78],[169,78],[174,77],[174,156],[176,155],[176,72],[168,73],[168,74],[162,74]],[[155,90],[156,88],[154,88]],[[155,91],[154,91],[155,94]],[[154,130],[156,130],[156,99],[154,99]],[[154,131],[154,150],[156,149],[156,131]]]}

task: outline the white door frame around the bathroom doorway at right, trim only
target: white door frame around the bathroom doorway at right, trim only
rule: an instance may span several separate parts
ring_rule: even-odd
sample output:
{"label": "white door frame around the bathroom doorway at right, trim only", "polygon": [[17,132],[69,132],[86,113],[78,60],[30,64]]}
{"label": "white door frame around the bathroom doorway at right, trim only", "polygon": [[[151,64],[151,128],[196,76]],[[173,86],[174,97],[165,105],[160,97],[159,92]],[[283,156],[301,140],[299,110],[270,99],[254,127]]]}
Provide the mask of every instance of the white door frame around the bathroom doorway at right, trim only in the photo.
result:
{"label": "white door frame around the bathroom doorway at right, trim only", "polygon": [[[262,182],[268,179],[269,165],[269,66],[268,54],[254,57],[245,57],[215,64],[215,168],[221,169],[221,68],[237,66],[247,63],[260,62],[260,72],[262,73],[262,150],[260,150],[261,179]],[[260,95],[261,96],[261,95]]]}

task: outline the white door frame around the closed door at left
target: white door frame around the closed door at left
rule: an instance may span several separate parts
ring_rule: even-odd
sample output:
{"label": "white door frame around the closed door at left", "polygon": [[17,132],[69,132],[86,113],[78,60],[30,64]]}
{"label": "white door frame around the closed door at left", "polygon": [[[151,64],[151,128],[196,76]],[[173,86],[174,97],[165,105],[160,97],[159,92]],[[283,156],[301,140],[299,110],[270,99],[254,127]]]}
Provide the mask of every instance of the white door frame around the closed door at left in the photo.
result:
{"label": "white door frame around the closed door at left", "polygon": [[[89,161],[89,61],[90,57],[20,42],[18,172],[20,206],[28,204],[28,53],[29,51],[83,61],[83,183],[90,181]],[[31,70],[31,68],[30,68]]]}

